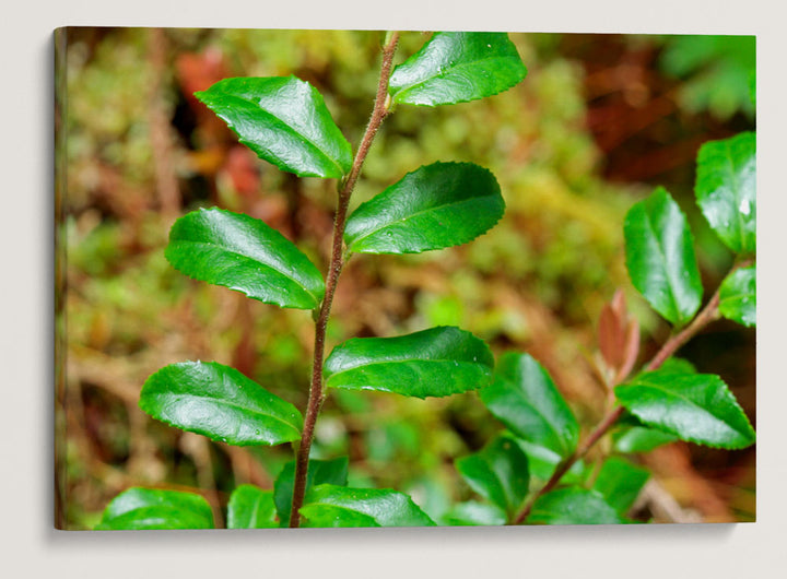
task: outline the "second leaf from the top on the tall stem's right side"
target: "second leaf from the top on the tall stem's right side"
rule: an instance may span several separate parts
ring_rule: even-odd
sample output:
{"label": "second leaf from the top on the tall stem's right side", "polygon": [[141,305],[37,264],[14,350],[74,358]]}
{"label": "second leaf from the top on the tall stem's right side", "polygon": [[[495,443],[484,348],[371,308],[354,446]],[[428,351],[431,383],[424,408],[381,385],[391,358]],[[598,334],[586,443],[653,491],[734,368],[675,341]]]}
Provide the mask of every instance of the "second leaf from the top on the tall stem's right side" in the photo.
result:
{"label": "second leaf from the top on the tall stem's right side", "polygon": [[346,222],[344,241],[360,253],[419,253],[466,244],[505,211],[492,173],[472,163],[434,163],[408,173]]}

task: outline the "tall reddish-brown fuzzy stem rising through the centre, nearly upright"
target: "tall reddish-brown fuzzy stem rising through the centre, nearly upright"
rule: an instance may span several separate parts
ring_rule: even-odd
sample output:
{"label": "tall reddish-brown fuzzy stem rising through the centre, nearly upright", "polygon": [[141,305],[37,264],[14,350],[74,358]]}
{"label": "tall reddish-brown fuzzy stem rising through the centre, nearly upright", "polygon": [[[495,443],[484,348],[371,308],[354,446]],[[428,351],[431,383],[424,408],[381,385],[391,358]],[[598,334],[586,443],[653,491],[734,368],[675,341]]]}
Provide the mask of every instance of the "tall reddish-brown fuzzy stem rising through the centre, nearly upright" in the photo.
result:
{"label": "tall reddish-brown fuzzy stem rising through the centre, nearly upright", "polygon": [[355,188],[361,167],[368,154],[372,141],[377,134],[377,130],[388,114],[388,79],[391,73],[393,63],[393,52],[399,40],[399,34],[392,33],[387,36],[387,43],[383,48],[383,64],[380,67],[379,84],[377,85],[377,96],[375,97],[372,118],[366,126],[366,131],[361,139],[361,144],[355,153],[352,168],[350,173],[339,184],[339,199],[337,202],[336,216],[333,217],[333,240],[331,246],[330,263],[328,265],[328,275],[326,280],[326,295],[320,305],[319,315],[315,324],[315,351],[314,363],[312,366],[312,383],[309,386],[308,402],[306,405],[306,415],[304,416],[304,429],[301,436],[301,445],[297,449],[295,458],[295,482],[293,486],[292,510],[290,512],[290,527],[297,528],[301,524],[301,507],[303,506],[304,495],[306,493],[306,475],[308,472],[308,457],[314,440],[315,424],[319,415],[325,393],[322,391],[322,361],[325,358],[325,338],[326,328],[328,327],[328,318],[330,317],[331,305],[333,304],[333,294],[336,293],[339,275],[344,267],[344,257],[342,255],[344,226],[346,224],[348,206],[350,205],[350,197]]}

